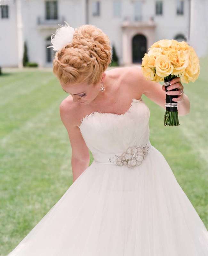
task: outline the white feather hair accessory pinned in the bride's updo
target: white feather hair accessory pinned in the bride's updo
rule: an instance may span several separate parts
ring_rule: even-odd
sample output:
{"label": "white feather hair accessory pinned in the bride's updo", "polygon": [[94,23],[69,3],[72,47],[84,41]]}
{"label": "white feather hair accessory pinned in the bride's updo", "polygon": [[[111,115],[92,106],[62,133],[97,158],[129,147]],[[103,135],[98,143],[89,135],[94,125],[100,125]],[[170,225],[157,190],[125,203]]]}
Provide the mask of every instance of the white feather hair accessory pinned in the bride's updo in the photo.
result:
{"label": "white feather hair accessory pinned in the bride's updo", "polygon": [[58,24],[61,27],[56,30],[55,34],[52,34],[52,45],[48,46],[47,48],[53,47],[54,51],[59,51],[72,41],[74,35],[74,28],[70,27],[66,21],[64,22],[66,23],[65,26]]}

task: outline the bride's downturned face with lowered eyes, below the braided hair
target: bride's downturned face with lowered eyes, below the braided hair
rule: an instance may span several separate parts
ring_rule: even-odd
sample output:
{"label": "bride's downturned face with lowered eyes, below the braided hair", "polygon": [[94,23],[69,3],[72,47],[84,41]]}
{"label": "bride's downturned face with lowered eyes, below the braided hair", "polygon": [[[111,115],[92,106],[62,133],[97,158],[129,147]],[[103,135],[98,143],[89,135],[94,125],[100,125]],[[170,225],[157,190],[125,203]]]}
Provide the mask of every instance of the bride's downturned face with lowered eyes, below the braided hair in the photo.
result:
{"label": "bride's downturned face with lowered eyes, below the braided hair", "polygon": [[[106,74],[103,73],[102,81]],[[71,94],[73,101],[80,104],[89,104],[100,92],[101,81],[95,85],[80,83],[80,84],[61,84],[62,89]]]}

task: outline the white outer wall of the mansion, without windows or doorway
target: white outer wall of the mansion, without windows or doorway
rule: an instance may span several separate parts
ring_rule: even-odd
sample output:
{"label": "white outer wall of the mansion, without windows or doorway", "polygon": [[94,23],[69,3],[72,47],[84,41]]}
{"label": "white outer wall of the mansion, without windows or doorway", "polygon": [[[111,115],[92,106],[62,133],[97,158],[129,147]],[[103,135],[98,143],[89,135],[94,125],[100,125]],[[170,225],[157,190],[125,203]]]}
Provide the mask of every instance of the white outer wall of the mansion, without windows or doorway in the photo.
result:
{"label": "white outer wall of the mansion, without windows or doorway", "polygon": [[[37,17],[44,18],[45,4],[44,0],[27,0],[22,1],[22,19],[23,19],[23,41],[27,40],[28,43],[28,56],[29,61],[37,62],[39,66],[46,66],[46,41],[45,39],[55,33],[59,28],[58,24],[55,26],[43,27],[37,25]],[[205,37],[204,29],[200,18],[207,17],[206,6],[207,0],[192,0],[192,41],[195,48],[202,53],[205,51],[205,46],[202,43]],[[198,1],[201,4],[197,4]],[[1,66],[17,66],[17,34],[16,34],[16,6],[10,3],[9,19],[0,19],[0,65]],[[102,29],[110,38],[111,44],[115,44],[116,53],[122,63],[122,22],[124,17],[129,17],[133,20],[134,4],[133,0],[121,0],[122,2],[122,15],[120,18],[113,17],[113,0],[100,0],[101,10],[100,16],[92,16],[92,0],[89,0],[89,24],[96,25]],[[155,0],[143,1],[142,15],[145,19],[154,16],[156,22],[156,35],[155,40],[160,39],[173,39],[178,33],[182,33],[188,37],[188,0],[185,0],[185,13],[182,16],[176,15],[176,0],[163,1],[163,15],[155,15]],[[205,4],[206,3],[206,4]],[[195,11],[193,11],[195,10]],[[197,10],[197,11],[196,11]],[[201,14],[203,13],[203,15]],[[85,24],[85,0],[59,0],[58,1],[58,14],[64,16],[65,20],[72,27],[78,27]],[[197,23],[195,23],[197,21]],[[57,22],[59,23],[59,22]],[[64,23],[62,23],[64,25]],[[197,25],[199,24],[199,25]],[[197,31],[198,30],[198,31]],[[207,32],[206,32],[207,34]],[[196,38],[201,38],[198,44]],[[207,41],[206,41],[207,42]],[[206,43],[207,44],[207,43]],[[201,53],[201,54],[202,54]],[[52,66],[52,64],[49,64]]]}

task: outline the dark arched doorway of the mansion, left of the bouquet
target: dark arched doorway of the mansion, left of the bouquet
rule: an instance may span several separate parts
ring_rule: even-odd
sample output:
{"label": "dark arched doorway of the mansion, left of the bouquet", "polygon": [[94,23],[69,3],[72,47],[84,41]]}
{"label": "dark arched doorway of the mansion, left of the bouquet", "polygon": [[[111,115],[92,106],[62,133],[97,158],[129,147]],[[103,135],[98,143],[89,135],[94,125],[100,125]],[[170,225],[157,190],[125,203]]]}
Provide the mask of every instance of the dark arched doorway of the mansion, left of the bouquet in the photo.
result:
{"label": "dark arched doorway of the mansion, left of the bouquet", "polygon": [[132,62],[141,63],[147,52],[147,39],[144,35],[137,34],[132,38]]}

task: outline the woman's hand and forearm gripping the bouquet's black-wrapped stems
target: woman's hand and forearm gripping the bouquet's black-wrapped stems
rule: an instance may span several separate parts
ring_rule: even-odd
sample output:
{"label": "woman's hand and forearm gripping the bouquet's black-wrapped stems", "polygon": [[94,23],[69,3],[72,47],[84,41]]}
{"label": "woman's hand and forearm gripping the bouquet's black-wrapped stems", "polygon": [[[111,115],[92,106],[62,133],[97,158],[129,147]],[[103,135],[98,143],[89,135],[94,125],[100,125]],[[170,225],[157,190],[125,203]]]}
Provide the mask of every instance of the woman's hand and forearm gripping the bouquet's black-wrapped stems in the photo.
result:
{"label": "woman's hand and forearm gripping the bouquet's black-wrapped stems", "polygon": [[[170,85],[167,87],[167,90],[172,90],[178,88],[178,91],[167,92],[168,95],[178,95],[177,98],[173,98],[173,102],[178,102],[178,115],[184,116],[190,112],[190,101],[188,96],[183,92],[183,85],[180,82],[180,77],[175,77],[170,82]],[[165,86],[162,86],[162,89],[165,91]],[[182,94],[179,95],[182,91]]]}

